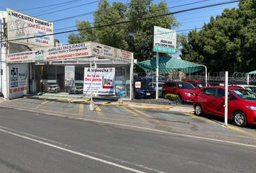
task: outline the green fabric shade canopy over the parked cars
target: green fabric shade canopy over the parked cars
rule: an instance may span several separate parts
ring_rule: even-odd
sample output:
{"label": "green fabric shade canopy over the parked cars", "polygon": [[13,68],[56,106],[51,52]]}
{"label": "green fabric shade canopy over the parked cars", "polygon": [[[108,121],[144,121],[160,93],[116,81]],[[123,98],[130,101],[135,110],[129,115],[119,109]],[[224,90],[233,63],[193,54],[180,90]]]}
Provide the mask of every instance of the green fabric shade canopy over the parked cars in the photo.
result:
{"label": "green fabric shade canopy over the parked cars", "polygon": [[[139,62],[137,65],[145,71],[153,72],[156,68],[156,58]],[[162,74],[170,74],[176,71],[182,71],[184,74],[192,74],[197,71],[202,71],[204,68],[205,67],[200,64],[184,61],[178,58],[168,56],[159,58],[159,73]]]}

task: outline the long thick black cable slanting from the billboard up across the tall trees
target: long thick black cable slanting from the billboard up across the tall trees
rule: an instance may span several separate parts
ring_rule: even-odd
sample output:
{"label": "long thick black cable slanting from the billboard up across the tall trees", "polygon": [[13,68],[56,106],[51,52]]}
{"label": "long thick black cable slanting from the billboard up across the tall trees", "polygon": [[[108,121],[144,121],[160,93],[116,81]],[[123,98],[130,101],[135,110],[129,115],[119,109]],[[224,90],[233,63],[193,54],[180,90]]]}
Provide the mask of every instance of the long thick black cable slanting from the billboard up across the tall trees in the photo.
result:
{"label": "long thick black cable slanting from the billboard up across the tall trees", "polygon": [[[137,22],[137,21],[141,21],[141,20],[145,20],[145,19],[153,19],[153,18],[156,18],[156,17],[164,17],[164,16],[168,16],[168,15],[171,15],[171,14],[179,14],[179,13],[183,13],[183,12],[190,12],[190,11],[194,11],[194,10],[197,10],[197,9],[205,9],[205,8],[209,8],[209,7],[212,7],[212,6],[221,6],[221,5],[224,5],[224,4],[232,4],[232,3],[235,3],[235,2],[239,2],[239,1],[240,0],[226,1],[226,2],[221,2],[221,3],[216,3],[216,4],[210,4],[210,5],[206,5],[206,6],[198,6],[198,7],[191,8],[191,9],[184,9],[184,10],[180,10],[180,11],[177,11],[177,12],[169,12],[169,13],[165,13],[165,14],[158,14],[158,15],[150,16],[150,17],[142,17],[142,18],[139,18],[139,19],[130,19],[130,20],[123,21],[123,22],[116,22],[116,23],[111,23],[111,24],[106,24],[106,25],[87,27],[87,28],[82,28],[82,29],[77,29],[77,30],[68,30],[68,31],[64,31],[64,32],[56,32],[56,33],[48,34],[48,35],[38,35],[38,36],[33,36],[33,37],[17,38],[17,39],[8,40],[8,41],[25,40],[25,39],[35,38],[35,37],[45,37],[45,36],[50,36],[50,35],[64,34],[64,33],[68,33],[68,32],[76,32],[76,31],[81,31],[81,30],[90,30],[90,29],[101,28],[101,27],[110,27],[110,26],[113,26],[113,25],[127,24],[129,22]],[[6,42],[6,41],[4,41],[4,42]]]}

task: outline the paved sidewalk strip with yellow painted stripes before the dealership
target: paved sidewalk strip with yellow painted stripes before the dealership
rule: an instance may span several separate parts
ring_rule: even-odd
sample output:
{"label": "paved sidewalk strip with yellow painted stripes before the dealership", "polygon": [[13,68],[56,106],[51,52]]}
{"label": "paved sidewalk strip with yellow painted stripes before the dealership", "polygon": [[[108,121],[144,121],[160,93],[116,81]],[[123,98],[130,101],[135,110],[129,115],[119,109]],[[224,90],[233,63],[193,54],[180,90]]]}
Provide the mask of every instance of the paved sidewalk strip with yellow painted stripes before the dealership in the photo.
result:
{"label": "paved sidewalk strip with yellow painted stripes before the dealership", "polygon": [[152,106],[137,102],[124,102],[122,106],[119,106],[117,102],[106,103],[103,101],[95,102],[95,104],[95,110],[90,111],[87,102],[72,103],[20,98],[0,100],[0,109],[11,108],[102,125],[113,125],[119,128],[130,128],[131,130],[199,136],[200,138],[214,138],[215,140],[256,146],[255,129],[237,128],[234,125],[225,128],[218,120],[214,121],[207,117],[197,117],[191,114],[192,106]]}

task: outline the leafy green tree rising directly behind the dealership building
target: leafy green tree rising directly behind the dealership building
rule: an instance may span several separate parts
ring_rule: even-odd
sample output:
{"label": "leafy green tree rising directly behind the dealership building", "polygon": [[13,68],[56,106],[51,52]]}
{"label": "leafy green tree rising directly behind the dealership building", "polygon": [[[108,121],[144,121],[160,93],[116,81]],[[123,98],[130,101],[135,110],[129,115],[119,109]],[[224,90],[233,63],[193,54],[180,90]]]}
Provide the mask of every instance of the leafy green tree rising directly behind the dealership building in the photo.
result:
{"label": "leafy green tree rising directly behind the dealership building", "polygon": [[163,1],[153,4],[153,0],[131,0],[127,6],[121,2],[110,4],[107,0],[101,0],[93,14],[92,26],[95,29],[82,30],[92,26],[89,22],[77,22],[77,29],[80,31],[69,35],[69,43],[94,41],[132,51],[138,61],[144,61],[153,57],[153,26],[171,28],[179,25],[173,15],[109,27],[101,26],[168,12],[167,4]]}

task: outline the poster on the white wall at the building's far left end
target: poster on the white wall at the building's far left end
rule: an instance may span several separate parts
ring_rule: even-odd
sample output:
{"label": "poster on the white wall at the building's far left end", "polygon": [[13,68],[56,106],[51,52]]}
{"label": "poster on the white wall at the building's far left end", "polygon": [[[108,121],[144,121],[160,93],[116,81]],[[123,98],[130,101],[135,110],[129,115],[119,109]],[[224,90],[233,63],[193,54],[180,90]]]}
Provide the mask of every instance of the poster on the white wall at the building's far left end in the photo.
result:
{"label": "poster on the white wall at the building's far left end", "polygon": [[9,94],[10,98],[21,97],[27,94],[28,64],[9,66]]}

